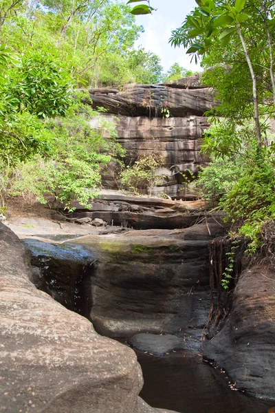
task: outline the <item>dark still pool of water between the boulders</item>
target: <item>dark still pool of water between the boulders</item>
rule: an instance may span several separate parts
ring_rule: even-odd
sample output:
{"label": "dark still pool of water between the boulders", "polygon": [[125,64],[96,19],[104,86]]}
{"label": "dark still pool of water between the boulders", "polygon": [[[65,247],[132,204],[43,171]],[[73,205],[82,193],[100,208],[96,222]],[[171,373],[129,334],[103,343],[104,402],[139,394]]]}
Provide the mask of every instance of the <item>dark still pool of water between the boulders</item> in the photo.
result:
{"label": "dark still pool of water between the boulders", "polygon": [[267,413],[275,405],[275,401],[230,390],[234,383],[229,383],[225,372],[193,354],[175,352],[157,357],[136,353],[144,376],[140,396],[153,407],[179,413]]}

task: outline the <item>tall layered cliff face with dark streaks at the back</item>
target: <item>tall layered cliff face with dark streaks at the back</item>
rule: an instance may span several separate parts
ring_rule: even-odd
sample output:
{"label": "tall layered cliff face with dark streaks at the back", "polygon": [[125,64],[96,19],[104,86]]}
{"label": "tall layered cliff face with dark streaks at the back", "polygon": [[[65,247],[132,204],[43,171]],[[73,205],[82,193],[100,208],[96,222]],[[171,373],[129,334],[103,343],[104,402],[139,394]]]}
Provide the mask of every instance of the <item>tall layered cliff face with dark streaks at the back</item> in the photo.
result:
{"label": "tall layered cliff face with dark streaks at the back", "polygon": [[[208,165],[208,158],[199,150],[203,131],[209,126],[203,114],[214,105],[210,89],[199,85],[199,76],[163,85],[126,85],[122,90],[101,88],[89,92],[95,109],[104,107],[109,111],[108,118],[118,117],[118,141],[126,149],[126,165],[142,156],[162,158],[162,168],[156,172],[162,182],[153,194],[196,198],[184,185],[181,173],[197,173]],[[91,126],[100,127],[100,120],[93,118]],[[111,173],[104,177],[103,184],[116,188]]]}

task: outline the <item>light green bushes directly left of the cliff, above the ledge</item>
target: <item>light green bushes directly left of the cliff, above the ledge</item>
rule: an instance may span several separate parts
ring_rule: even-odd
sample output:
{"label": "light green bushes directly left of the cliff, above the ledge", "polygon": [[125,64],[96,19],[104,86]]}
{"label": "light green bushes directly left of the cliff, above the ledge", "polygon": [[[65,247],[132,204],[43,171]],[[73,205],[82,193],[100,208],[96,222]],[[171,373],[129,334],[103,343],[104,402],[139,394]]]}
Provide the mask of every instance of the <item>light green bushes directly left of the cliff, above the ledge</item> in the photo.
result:
{"label": "light green bushes directly left of the cliff, above the ledge", "polygon": [[91,116],[100,118],[88,105],[75,103],[69,116],[49,120],[47,130],[56,136],[52,158],[36,158],[12,169],[10,195],[21,195],[25,202],[38,199],[45,203],[45,193],[52,193],[67,209],[72,210],[73,200],[89,208],[90,200],[98,195],[102,169],[124,156],[124,149],[115,140],[115,124],[102,119],[96,131],[89,125]]}

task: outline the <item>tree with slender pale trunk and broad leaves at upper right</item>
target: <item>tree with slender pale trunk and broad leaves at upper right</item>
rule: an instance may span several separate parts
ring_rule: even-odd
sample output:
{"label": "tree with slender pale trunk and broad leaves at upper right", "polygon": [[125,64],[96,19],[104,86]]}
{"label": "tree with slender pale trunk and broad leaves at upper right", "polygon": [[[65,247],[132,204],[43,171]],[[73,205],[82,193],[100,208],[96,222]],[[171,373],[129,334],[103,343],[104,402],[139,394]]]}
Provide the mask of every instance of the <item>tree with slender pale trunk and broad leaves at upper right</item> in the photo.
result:
{"label": "tree with slender pale trunk and broad leaves at upper right", "polygon": [[[253,57],[255,57],[255,43],[257,43],[257,47],[261,44],[263,50],[268,48],[270,76],[272,87],[274,87],[272,38],[270,35],[271,28],[274,30],[274,21],[273,19],[269,21],[269,17],[274,12],[274,4],[267,0],[198,0],[197,4],[198,7],[186,17],[183,25],[173,32],[170,42],[175,46],[189,47],[187,53],[195,56],[195,59],[200,55],[210,54],[211,51],[215,51],[219,47],[225,51],[230,50],[232,43],[239,43],[252,81],[253,118],[256,137],[259,146],[261,146],[260,102]],[[253,32],[252,27],[255,29]],[[256,64],[261,63],[260,58]]]}

